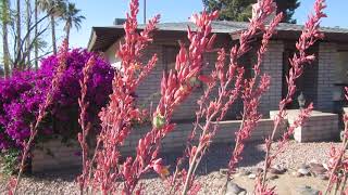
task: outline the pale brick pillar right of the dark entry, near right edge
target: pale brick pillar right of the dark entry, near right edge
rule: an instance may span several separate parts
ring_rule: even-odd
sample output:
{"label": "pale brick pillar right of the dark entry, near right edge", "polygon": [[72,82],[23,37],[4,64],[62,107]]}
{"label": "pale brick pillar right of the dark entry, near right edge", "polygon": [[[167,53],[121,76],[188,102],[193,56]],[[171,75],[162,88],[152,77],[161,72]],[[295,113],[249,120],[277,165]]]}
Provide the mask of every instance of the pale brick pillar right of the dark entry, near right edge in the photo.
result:
{"label": "pale brick pillar right of the dark entry, near right edge", "polygon": [[335,63],[337,62],[337,46],[321,42],[318,56],[318,107],[320,110],[333,110],[333,87],[335,80]]}

